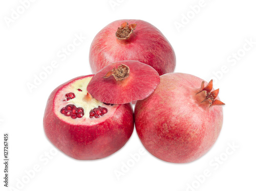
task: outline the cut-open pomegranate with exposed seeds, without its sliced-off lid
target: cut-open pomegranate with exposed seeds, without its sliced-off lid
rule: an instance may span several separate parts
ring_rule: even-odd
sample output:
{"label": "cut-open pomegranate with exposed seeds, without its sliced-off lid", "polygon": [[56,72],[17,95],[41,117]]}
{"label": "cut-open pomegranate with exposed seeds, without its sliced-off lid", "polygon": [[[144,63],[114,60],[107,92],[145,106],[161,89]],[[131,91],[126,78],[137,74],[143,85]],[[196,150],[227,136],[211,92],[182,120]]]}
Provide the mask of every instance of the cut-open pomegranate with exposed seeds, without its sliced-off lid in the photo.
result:
{"label": "cut-open pomegranate with exposed seeds, without its sliced-off lid", "polygon": [[74,78],[57,87],[45,110],[46,136],[75,159],[113,154],[124,146],[134,129],[131,104],[104,104],[87,92],[93,76]]}

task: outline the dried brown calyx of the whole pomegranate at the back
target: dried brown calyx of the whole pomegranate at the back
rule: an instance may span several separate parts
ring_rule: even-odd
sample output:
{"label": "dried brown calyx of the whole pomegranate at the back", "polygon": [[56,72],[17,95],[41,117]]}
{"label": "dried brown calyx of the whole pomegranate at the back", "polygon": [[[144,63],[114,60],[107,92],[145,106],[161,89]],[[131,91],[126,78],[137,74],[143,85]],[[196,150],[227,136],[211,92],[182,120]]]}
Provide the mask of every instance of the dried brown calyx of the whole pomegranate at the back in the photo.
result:
{"label": "dried brown calyx of the whole pomegranate at the back", "polygon": [[116,31],[116,38],[119,40],[126,40],[130,38],[133,31],[136,29],[137,24],[130,24],[128,22],[123,22],[120,27],[118,27]]}

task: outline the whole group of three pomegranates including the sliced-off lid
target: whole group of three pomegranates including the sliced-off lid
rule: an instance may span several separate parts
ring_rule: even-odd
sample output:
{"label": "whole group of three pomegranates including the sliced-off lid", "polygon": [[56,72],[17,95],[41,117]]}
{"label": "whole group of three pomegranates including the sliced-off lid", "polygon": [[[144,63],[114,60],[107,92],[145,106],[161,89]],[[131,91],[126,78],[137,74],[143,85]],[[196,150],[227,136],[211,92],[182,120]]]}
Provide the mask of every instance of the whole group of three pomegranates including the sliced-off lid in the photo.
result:
{"label": "whole group of three pomegranates including the sliced-off lid", "polygon": [[164,161],[191,162],[214,145],[225,105],[219,89],[212,80],[206,85],[173,73],[173,47],[153,25],[110,23],[95,36],[89,60],[96,74],[63,83],[47,102],[44,130],[63,153],[80,160],[109,156],[129,140],[134,124],[147,151]]}

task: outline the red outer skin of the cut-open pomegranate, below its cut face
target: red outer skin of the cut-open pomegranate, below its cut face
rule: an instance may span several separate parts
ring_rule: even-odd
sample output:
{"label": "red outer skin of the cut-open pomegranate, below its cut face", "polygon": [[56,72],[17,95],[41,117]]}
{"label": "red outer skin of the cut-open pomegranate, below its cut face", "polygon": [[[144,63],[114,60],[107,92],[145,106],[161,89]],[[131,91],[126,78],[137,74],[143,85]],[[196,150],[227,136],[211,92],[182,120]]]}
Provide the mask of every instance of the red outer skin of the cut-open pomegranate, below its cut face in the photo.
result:
{"label": "red outer skin of the cut-open pomegranate, below its cut face", "polygon": [[78,78],[58,86],[50,94],[44,115],[46,136],[60,151],[75,159],[92,160],[109,156],[121,149],[133,133],[132,106],[119,105],[115,115],[97,125],[76,126],[60,120],[53,112],[53,100],[63,86]]}

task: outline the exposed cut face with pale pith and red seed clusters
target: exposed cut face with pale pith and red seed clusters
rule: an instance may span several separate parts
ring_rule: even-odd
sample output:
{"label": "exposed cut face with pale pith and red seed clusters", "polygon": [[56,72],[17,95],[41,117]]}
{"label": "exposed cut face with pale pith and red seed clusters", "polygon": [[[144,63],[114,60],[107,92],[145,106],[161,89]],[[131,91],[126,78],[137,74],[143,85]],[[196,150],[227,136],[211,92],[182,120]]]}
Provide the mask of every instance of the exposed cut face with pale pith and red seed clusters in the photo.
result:
{"label": "exposed cut face with pale pith and red seed clusters", "polygon": [[87,91],[93,75],[78,77],[56,92],[53,111],[63,121],[78,125],[94,125],[112,117],[119,105],[94,99]]}

